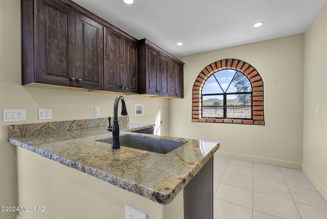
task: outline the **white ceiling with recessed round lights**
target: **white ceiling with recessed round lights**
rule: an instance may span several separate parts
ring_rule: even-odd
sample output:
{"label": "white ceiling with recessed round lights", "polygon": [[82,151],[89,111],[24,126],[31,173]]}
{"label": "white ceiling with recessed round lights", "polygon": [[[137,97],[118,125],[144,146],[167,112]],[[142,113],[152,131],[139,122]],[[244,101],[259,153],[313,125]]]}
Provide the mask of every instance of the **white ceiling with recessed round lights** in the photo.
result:
{"label": "white ceiling with recessed round lights", "polygon": [[[303,33],[326,0],[73,1],[179,57]],[[265,24],[253,28],[258,21]]]}

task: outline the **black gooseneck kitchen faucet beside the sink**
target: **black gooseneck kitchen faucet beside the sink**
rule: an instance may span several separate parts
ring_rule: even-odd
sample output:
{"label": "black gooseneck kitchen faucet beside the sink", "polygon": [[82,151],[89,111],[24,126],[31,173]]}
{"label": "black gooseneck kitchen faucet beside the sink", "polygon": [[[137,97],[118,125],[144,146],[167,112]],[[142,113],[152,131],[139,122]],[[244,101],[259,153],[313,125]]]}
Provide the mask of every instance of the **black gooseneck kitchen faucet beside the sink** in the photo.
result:
{"label": "black gooseneck kitchen faucet beside the sink", "polygon": [[125,104],[125,99],[122,95],[119,95],[116,97],[114,100],[114,105],[113,105],[113,121],[112,121],[112,126],[110,125],[110,119],[111,117],[108,117],[109,119],[109,127],[108,131],[112,132],[112,143],[111,143],[111,149],[120,149],[121,144],[119,142],[119,124],[118,124],[118,104],[119,100],[122,100],[122,116],[127,116],[127,109],[126,109],[126,104]]}

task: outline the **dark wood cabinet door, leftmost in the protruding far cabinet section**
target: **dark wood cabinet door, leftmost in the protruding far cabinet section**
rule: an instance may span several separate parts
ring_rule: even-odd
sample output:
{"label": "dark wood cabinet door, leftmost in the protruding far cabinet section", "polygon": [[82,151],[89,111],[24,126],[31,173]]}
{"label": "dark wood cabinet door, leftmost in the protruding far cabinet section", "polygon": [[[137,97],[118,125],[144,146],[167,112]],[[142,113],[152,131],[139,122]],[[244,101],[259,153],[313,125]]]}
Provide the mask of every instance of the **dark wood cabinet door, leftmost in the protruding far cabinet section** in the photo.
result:
{"label": "dark wood cabinet door, leftmost in the protruding far cabinet section", "polygon": [[147,94],[158,95],[159,93],[159,77],[158,77],[158,63],[160,53],[146,45],[146,74],[147,74]]}

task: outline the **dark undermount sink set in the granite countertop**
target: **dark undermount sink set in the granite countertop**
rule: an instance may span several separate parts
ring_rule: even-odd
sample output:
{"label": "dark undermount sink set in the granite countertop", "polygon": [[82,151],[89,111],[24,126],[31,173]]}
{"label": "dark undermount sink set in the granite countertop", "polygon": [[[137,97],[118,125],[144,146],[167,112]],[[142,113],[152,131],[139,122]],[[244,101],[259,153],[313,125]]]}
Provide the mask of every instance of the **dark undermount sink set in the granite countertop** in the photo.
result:
{"label": "dark undermount sink set in the granite countertop", "polygon": [[[176,142],[162,139],[144,138],[142,136],[134,135],[120,136],[119,141],[121,146],[152,151],[159,154],[167,154],[168,152],[173,151],[186,143],[180,141]],[[100,142],[111,144],[112,138]]]}

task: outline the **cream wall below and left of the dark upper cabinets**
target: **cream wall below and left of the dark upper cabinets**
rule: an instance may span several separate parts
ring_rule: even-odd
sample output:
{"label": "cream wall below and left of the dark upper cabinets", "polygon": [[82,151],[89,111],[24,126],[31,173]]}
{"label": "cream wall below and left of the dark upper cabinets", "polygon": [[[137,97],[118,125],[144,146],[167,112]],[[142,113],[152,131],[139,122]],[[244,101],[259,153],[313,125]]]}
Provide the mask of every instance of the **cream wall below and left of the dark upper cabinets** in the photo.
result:
{"label": "cream wall below and left of the dark upper cabinets", "polygon": [[[26,109],[27,119],[21,123],[41,122],[38,108],[52,109],[50,121],[96,118],[94,107],[100,107],[101,117],[112,116],[114,94],[21,86],[20,38],[20,1],[0,0],[0,109]],[[160,111],[161,135],[169,135],[168,99],[124,97],[131,122],[155,123]],[[134,103],[144,104],[145,116],[134,117]],[[16,149],[8,143],[8,124],[17,122],[0,122],[0,206],[17,205]],[[0,211],[0,218],[10,214]]]}

